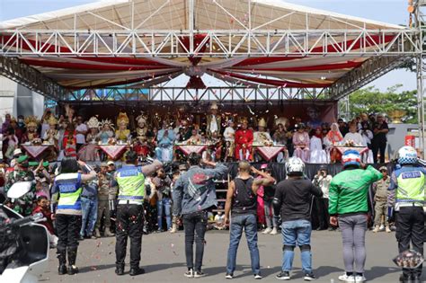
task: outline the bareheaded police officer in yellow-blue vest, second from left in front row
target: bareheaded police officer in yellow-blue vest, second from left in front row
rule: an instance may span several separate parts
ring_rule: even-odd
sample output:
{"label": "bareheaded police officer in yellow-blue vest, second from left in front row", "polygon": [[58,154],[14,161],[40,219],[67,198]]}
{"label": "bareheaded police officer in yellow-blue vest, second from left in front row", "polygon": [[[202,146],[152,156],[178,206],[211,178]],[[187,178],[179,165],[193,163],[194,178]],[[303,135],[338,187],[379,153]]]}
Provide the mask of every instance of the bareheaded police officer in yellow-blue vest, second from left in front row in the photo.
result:
{"label": "bareheaded police officer in yellow-blue vest, second from left in front row", "polygon": [[119,203],[117,205],[115,245],[117,275],[124,274],[124,259],[128,236],[130,238],[130,276],[145,273],[139,268],[142,234],[144,226],[143,202],[146,197],[145,176],[151,175],[163,164],[157,160],[153,164],[138,167],[138,154],[129,151],[126,154],[126,164],[115,172],[111,186],[119,188]]}

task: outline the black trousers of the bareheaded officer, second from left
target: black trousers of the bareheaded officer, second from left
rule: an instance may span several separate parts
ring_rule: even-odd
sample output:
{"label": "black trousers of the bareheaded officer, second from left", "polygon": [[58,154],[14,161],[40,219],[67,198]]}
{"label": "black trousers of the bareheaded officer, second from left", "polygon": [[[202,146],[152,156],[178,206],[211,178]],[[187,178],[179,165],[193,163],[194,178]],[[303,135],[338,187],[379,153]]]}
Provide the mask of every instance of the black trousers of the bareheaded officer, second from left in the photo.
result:
{"label": "black trousers of the bareheaded officer, second from left", "polygon": [[130,238],[130,268],[138,268],[144,231],[144,208],[142,205],[118,205],[116,220],[116,264],[124,267],[128,237]]}

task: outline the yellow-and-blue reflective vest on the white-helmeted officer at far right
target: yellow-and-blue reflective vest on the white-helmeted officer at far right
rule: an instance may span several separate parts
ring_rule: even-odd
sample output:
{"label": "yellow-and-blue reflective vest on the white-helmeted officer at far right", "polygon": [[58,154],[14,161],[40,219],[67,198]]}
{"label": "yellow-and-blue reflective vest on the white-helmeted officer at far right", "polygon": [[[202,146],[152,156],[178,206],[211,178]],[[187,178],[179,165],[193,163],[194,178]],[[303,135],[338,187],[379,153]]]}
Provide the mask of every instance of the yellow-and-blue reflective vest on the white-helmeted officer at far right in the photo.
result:
{"label": "yellow-and-blue reflective vest on the white-helmeted officer at far right", "polygon": [[413,204],[423,206],[425,178],[422,171],[413,168],[413,171],[399,172],[396,180],[398,184],[396,202],[400,203],[400,206],[411,206]]}

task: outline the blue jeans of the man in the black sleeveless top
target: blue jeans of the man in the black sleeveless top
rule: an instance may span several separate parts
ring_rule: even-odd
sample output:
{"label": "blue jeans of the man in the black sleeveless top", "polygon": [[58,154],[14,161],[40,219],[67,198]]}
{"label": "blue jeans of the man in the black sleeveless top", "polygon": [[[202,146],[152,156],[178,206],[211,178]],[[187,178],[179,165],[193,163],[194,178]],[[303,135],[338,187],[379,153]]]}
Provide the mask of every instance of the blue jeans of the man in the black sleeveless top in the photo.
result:
{"label": "blue jeans of the man in the black sleeveless top", "polygon": [[232,274],[235,271],[236,251],[241,240],[241,235],[243,234],[243,229],[250,251],[253,274],[259,274],[261,272],[261,259],[259,256],[259,248],[257,247],[257,219],[253,214],[235,216],[231,218],[231,232],[229,249],[227,251],[226,272]]}

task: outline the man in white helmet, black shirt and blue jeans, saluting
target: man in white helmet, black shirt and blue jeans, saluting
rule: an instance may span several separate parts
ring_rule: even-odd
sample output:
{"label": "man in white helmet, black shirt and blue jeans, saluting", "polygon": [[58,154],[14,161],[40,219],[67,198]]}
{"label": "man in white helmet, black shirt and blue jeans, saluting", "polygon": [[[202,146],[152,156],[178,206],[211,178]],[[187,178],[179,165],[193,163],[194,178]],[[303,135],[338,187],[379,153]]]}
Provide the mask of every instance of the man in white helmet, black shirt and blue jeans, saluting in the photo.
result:
{"label": "man in white helmet, black shirt and blue jeans, saluting", "polygon": [[294,248],[300,248],[305,280],[315,280],[312,272],[310,203],[312,196],[321,198],[323,191],[303,177],[305,164],[300,158],[291,157],[286,164],[288,180],[280,181],[273,199],[274,217],[281,215],[283,238],[283,262],[277,279],[289,280],[293,265]]}

